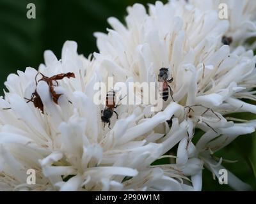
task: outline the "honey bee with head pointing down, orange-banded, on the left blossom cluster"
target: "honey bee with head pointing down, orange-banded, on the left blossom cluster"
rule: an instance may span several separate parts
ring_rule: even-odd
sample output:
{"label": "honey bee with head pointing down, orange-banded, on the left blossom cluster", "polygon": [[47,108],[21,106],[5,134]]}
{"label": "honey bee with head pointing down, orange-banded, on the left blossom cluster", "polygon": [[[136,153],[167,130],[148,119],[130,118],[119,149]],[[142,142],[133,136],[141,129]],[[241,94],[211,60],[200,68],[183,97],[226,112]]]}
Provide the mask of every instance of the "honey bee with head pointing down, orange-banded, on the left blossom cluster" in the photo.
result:
{"label": "honey bee with head pointing down, orange-banded, on the left blossom cluster", "polygon": [[116,114],[116,119],[118,119],[118,113],[116,113],[114,110],[118,106],[115,103],[115,96],[116,96],[116,92],[113,90],[109,91],[106,96],[106,106],[104,110],[101,111],[102,113],[101,120],[102,122],[104,122],[104,128],[106,126],[106,123],[108,123],[108,127],[110,128],[110,124],[111,124],[110,119],[113,113]]}

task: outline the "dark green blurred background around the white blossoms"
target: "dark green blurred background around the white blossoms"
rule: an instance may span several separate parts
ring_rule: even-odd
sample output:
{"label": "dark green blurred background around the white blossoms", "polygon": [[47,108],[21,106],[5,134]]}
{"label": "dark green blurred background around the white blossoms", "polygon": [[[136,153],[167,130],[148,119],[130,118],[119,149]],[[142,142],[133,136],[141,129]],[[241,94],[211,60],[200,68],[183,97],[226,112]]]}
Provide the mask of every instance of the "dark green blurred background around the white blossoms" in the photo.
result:
{"label": "dark green blurred background around the white blossoms", "polygon": [[[4,81],[17,69],[31,66],[38,68],[44,62],[44,50],[52,50],[60,59],[61,48],[66,40],[78,43],[79,54],[87,57],[97,52],[93,33],[106,33],[110,27],[107,18],[114,16],[124,22],[127,6],[134,3],[154,3],[154,0],[0,0],[0,91],[3,94]],[[166,1],[163,1],[164,3]],[[27,4],[36,5],[36,19],[26,17]],[[241,117],[255,119],[255,115]],[[198,133],[199,134],[199,133]],[[254,189],[256,175],[255,134],[241,136],[216,156],[238,160],[237,163],[224,163],[240,179],[250,183]],[[227,185],[218,184],[209,171],[204,171],[205,191],[231,190]]]}

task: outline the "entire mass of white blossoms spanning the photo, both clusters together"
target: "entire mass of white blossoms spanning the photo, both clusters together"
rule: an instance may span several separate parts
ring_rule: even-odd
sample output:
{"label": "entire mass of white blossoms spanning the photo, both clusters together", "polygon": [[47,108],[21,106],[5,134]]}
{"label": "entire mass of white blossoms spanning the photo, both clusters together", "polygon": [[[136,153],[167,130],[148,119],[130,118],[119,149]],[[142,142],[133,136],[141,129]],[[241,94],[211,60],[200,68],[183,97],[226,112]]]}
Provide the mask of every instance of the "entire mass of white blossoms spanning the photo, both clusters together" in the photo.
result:
{"label": "entire mass of white blossoms spanning the photo, both clusters together", "polygon": [[[65,43],[61,60],[45,51],[40,73],[76,75],[58,80],[58,104],[49,84],[36,82],[36,69],[9,75],[8,92],[0,98],[0,190],[200,191],[204,168],[219,177],[225,155],[216,158],[214,152],[256,127],[255,120],[225,118],[256,113],[255,105],[241,100],[256,100],[256,57],[243,45],[223,45],[221,38],[227,34],[241,44],[256,35],[256,2],[227,1],[228,20],[218,17],[216,1],[198,2],[157,1],[148,12],[134,4],[126,25],[109,18],[113,29],[95,33],[99,53],[88,59],[77,54],[74,41]],[[163,67],[173,77],[175,102],[169,97],[160,112],[120,105],[111,129],[104,127],[104,106],[93,103],[95,83],[107,83],[109,76],[115,82],[157,82]],[[27,103],[35,91],[44,113]],[[204,135],[194,143],[197,129]],[[157,164],[159,159],[168,162]],[[27,183],[29,169],[36,171],[34,185]],[[229,171],[228,184],[250,189]]]}

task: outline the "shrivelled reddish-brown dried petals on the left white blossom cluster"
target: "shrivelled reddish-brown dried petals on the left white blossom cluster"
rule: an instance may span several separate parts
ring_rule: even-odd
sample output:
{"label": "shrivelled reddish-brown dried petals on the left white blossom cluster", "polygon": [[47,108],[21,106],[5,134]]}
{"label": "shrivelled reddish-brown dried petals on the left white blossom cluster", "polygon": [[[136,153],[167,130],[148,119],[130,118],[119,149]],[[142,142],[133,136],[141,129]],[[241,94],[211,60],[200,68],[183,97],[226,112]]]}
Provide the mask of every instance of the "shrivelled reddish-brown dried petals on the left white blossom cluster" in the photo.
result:
{"label": "shrivelled reddish-brown dried petals on the left white blossom cluster", "polygon": [[[61,73],[61,74],[58,74],[58,75],[54,75],[52,77],[45,77],[42,73],[38,72],[38,74],[36,75],[36,77],[38,75],[42,75],[42,78],[40,78],[40,80],[36,81],[36,85],[38,84],[38,82],[40,81],[44,81],[46,82],[48,85],[49,85],[49,90],[50,90],[50,93],[51,93],[51,96],[52,96],[52,100],[54,101],[54,103],[58,104],[58,99],[60,98],[61,94],[57,94],[55,91],[54,91],[54,87],[55,86],[58,86],[58,82],[57,80],[61,80],[65,77],[67,78],[75,78],[75,74],[72,73],[72,72],[68,72],[68,73]],[[36,80],[36,77],[35,77],[35,80]],[[53,82],[56,82],[56,84],[53,84]],[[33,92],[32,95],[31,95],[31,98],[28,99],[28,98],[25,98],[27,99],[27,103],[29,102],[33,102],[34,106],[36,108],[39,108],[41,110],[42,113],[44,113],[44,104],[42,102],[42,99],[40,98],[38,92]]]}

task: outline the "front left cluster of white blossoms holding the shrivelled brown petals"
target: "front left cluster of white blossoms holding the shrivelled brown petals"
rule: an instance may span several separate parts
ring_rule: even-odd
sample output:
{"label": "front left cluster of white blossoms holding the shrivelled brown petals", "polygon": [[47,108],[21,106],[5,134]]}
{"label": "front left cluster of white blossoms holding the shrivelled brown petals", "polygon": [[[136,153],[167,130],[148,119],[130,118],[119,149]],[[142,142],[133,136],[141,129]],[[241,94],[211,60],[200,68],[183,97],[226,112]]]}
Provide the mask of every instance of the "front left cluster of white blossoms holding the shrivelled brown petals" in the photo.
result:
{"label": "front left cluster of white blossoms holding the shrivelled brown petals", "polygon": [[[178,122],[173,126],[173,134],[164,138],[164,134],[153,131],[173,113],[183,113],[182,106],[172,103],[148,119],[144,119],[148,108],[135,106],[129,113],[126,106],[121,106],[118,112],[123,114],[115,126],[111,130],[103,128],[102,107],[89,97],[93,94],[90,84],[99,79],[95,75],[86,82],[84,78],[97,62],[77,55],[76,48],[76,43],[67,41],[61,61],[46,51],[45,66],[40,66],[40,72],[48,77],[67,71],[76,74],[76,78],[58,82],[55,91],[63,93],[58,105],[52,101],[46,82],[35,84],[35,69],[27,68],[24,73],[18,71],[18,75],[8,77],[9,92],[0,101],[4,108],[0,132],[1,190],[192,189],[182,184],[186,177],[175,165],[150,166],[184,135],[186,130]],[[35,89],[44,103],[44,114],[24,99]],[[156,143],[159,138],[162,141]],[[31,168],[36,170],[36,185],[26,184],[26,171]]]}

